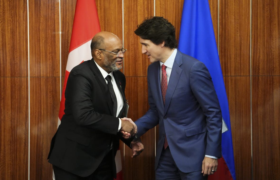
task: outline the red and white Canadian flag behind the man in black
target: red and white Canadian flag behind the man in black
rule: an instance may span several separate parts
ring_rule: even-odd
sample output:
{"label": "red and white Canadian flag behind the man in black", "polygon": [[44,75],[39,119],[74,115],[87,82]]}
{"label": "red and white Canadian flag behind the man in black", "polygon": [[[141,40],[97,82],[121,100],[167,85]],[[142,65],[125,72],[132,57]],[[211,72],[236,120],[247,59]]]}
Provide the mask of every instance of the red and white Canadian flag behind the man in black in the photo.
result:
{"label": "red and white Canadian flag behind the man in black", "polygon": [[[60,100],[58,125],[60,124],[60,120],[64,114],[64,94],[69,73],[73,67],[77,66],[83,61],[92,59],[90,50],[91,39],[96,33],[100,31],[101,29],[99,25],[99,18],[95,0],[77,0],[69,47],[69,55],[66,64],[65,79]],[[122,180],[122,163],[120,150],[117,151],[115,161],[117,170],[116,180]],[[53,179],[55,179],[54,175]]]}

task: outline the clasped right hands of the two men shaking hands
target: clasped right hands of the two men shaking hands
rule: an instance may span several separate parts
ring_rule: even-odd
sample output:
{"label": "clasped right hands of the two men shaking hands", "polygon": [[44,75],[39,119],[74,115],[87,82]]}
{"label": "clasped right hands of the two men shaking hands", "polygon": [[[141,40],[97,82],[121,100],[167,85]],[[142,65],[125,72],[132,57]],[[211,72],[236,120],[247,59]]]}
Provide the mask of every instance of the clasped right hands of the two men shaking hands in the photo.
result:
{"label": "clasped right hands of the two men shaking hands", "polygon": [[129,139],[137,133],[137,126],[130,118],[121,118],[121,121],[120,132],[123,134],[123,138]]}

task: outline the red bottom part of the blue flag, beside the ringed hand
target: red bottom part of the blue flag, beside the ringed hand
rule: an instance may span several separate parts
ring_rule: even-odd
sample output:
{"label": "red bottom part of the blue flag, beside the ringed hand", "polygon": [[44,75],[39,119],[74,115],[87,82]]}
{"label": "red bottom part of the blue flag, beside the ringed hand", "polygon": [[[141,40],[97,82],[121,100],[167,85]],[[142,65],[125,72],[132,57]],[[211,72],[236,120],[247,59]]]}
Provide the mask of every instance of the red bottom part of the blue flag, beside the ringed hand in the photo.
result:
{"label": "red bottom part of the blue flag, beside the ringed hand", "polygon": [[233,180],[230,171],[228,169],[228,166],[224,160],[223,157],[218,159],[218,168],[217,171],[208,176],[208,180]]}

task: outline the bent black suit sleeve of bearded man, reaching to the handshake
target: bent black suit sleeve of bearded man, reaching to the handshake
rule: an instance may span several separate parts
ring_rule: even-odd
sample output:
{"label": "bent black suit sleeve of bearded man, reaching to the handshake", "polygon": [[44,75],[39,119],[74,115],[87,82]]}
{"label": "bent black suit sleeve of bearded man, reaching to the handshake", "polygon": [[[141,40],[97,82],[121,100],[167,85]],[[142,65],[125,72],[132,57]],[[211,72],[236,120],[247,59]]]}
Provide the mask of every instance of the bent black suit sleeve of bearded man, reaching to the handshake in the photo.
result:
{"label": "bent black suit sleeve of bearded man, reaching to the handshake", "polygon": [[95,111],[89,77],[81,70],[70,73],[65,91],[65,114],[72,114],[74,123],[109,134],[117,134],[119,120],[116,117]]}

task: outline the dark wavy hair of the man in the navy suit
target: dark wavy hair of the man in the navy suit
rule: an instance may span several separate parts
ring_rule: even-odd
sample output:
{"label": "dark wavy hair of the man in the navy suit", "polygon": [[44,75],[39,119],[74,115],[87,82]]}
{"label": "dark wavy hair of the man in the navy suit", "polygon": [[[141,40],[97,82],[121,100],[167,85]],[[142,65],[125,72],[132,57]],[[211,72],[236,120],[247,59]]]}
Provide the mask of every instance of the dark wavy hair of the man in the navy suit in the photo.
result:
{"label": "dark wavy hair of the man in the navy suit", "polygon": [[159,45],[164,41],[164,46],[171,49],[177,48],[175,27],[167,19],[158,16],[151,16],[137,25],[134,33],[142,39],[151,40]]}

